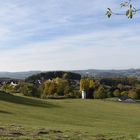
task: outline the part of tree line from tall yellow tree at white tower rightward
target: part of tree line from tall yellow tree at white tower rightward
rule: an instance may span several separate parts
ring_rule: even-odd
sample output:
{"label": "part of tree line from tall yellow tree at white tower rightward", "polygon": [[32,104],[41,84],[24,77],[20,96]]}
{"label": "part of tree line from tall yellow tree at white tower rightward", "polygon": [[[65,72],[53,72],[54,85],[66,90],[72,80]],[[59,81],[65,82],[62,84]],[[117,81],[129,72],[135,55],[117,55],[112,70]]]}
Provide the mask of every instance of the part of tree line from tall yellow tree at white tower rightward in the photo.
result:
{"label": "part of tree line from tall yellow tree at white tower rightward", "polygon": [[128,97],[140,99],[140,81],[133,77],[84,78],[80,81],[80,89],[87,93],[88,98]]}

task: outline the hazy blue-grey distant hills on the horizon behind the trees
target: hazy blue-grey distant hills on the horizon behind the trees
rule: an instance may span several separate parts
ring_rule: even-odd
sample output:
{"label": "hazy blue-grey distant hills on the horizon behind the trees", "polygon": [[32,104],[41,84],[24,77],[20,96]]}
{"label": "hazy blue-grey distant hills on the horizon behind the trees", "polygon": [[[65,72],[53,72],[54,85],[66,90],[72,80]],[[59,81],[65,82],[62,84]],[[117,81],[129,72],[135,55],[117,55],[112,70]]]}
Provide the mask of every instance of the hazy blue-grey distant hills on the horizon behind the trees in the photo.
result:
{"label": "hazy blue-grey distant hills on the horizon behind the trees", "polygon": [[[140,78],[140,69],[126,69],[126,70],[73,70],[74,72],[81,74],[82,76],[94,76],[94,77],[137,77]],[[0,72],[0,78],[14,78],[14,79],[25,79],[29,76],[39,74],[41,71],[27,71],[27,72]]]}

